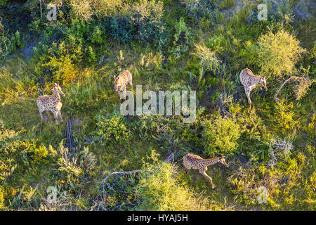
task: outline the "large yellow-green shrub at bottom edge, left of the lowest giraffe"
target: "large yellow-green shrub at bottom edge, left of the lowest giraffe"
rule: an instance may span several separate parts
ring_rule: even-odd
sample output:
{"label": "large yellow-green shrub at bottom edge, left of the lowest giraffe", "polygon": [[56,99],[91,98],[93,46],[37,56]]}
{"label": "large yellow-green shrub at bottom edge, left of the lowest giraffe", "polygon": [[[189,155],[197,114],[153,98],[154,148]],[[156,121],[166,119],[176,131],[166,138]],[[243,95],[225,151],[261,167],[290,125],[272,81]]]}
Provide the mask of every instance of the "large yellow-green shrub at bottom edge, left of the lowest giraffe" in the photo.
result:
{"label": "large yellow-green shrub at bottom edge, left of the lowest giraffe", "polygon": [[153,163],[145,163],[140,170],[135,210],[206,210],[203,200],[198,200],[187,186],[180,184],[176,167],[159,162],[152,153]]}

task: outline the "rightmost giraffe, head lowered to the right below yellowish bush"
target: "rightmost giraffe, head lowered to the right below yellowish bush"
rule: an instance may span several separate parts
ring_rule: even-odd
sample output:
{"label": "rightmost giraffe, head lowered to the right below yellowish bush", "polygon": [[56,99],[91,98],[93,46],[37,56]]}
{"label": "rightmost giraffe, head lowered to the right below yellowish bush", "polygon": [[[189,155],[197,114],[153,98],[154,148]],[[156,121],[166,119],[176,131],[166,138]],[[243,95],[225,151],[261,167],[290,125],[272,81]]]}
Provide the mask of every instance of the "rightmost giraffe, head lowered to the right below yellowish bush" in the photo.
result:
{"label": "rightmost giraffe, head lowered to the right below yellowish bush", "polygon": [[248,98],[249,108],[248,113],[251,110],[251,99],[250,99],[250,91],[252,91],[256,84],[261,83],[261,85],[265,88],[265,91],[268,91],[268,88],[266,86],[265,77],[255,76],[254,73],[249,70],[248,68],[242,70],[239,74],[239,79],[242,85],[244,85],[244,92],[246,93],[246,96]]}

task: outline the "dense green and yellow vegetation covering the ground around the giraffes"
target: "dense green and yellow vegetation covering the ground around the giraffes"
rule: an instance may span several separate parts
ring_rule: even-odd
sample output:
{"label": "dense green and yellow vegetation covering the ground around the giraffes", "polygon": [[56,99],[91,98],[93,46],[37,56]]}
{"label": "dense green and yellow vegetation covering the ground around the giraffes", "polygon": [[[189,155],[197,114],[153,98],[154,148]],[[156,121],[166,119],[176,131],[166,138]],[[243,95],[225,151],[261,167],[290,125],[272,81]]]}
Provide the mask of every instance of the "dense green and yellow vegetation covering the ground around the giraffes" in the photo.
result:
{"label": "dense green and yellow vegetation covering the ground around the giraffes", "polygon": [[[57,20],[46,18],[50,2]],[[268,20],[257,18],[261,3]],[[0,210],[316,210],[315,7],[0,0]],[[251,113],[244,68],[268,81],[251,92]],[[124,69],[143,91],[196,90],[195,122],[120,115],[113,76]],[[51,94],[54,82],[64,122],[41,123],[38,88]],[[187,153],[225,155],[230,167],[209,167],[215,189],[185,174]]]}

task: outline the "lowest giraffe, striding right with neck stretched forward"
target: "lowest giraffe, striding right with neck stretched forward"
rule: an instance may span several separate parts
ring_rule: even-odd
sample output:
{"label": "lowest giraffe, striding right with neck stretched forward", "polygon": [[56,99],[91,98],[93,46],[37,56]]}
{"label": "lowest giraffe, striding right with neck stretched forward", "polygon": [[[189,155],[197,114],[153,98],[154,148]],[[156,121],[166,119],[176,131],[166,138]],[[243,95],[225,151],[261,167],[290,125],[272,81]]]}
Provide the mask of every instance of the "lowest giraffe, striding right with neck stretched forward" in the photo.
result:
{"label": "lowest giraffe, striding right with neck stretched forward", "polygon": [[215,188],[211,177],[206,174],[207,167],[210,165],[214,165],[220,162],[221,164],[228,167],[228,164],[225,162],[223,156],[218,156],[216,158],[211,159],[203,159],[199,157],[199,155],[187,154],[183,156],[183,166],[185,167],[185,172],[187,173],[187,169],[199,169],[199,173],[202,174],[206,179],[209,179],[211,182],[212,188]]}

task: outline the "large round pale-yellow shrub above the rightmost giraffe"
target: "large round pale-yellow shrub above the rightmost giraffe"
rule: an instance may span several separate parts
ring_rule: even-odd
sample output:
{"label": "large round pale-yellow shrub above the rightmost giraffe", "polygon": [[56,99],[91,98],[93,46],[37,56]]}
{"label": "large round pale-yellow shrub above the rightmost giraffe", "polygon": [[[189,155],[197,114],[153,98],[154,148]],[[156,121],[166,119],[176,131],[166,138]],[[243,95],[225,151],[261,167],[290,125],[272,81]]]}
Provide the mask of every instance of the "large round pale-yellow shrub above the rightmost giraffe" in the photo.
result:
{"label": "large round pale-yellow shrub above the rightmost giraffe", "polygon": [[292,34],[279,30],[275,34],[270,30],[258,39],[258,65],[261,72],[272,78],[283,77],[294,72],[294,66],[305,49],[301,48]]}

